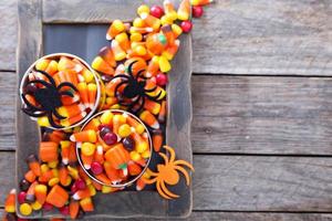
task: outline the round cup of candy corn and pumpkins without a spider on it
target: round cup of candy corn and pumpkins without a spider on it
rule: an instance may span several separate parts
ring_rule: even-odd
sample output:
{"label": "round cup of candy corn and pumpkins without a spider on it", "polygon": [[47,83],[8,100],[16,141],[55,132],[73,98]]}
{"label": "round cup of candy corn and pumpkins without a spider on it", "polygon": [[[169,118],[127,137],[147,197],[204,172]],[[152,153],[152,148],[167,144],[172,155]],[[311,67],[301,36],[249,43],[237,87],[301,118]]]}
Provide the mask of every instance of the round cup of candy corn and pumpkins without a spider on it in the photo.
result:
{"label": "round cup of candy corn and pumpkins without a spider on it", "polygon": [[[133,114],[131,114],[131,113],[128,113],[128,112],[126,112],[126,110],[122,110],[122,109],[107,109],[107,110],[103,110],[103,112],[100,112],[100,113],[97,113],[97,114],[95,114],[93,117],[91,117],[90,118],[90,120],[89,122],[86,122],[83,126],[82,126],[82,128],[81,128],[81,131],[84,131],[84,130],[91,130],[91,128],[93,127],[92,126],[92,124],[94,124],[92,120],[96,120],[96,119],[98,119],[100,120],[100,118],[101,118],[101,116],[103,116],[103,114],[104,113],[106,113],[106,112],[108,112],[108,113],[112,113],[113,114],[113,117],[114,116],[116,116],[116,115],[122,115],[122,116],[125,116],[125,117],[129,117],[131,118],[131,120],[135,120],[137,124],[139,124],[139,125],[142,125],[143,127],[142,128],[144,128],[144,130],[143,131],[139,131],[139,136],[144,136],[145,135],[145,141],[147,143],[147,145],[148,145],[148,147],[147,147],[147,149],[145,150],[146,152],[148,152],[148,157],[145,157],[145,158],[141,158],[141,159],[144,159],[144,165],[139,165],[139,164],[137,164],[137,161],[135,161],[135,160],[133,160],[133,158],[132,158],[132,151],[134,151],[134,152],[137,152],[137,140],[135,140],[134,139],[134,147],[133,147],[133,149],[132,149],[132,151],[131,150],[128,150],[123,144],[124,144],[124,139],[126,138],[126,137],[121,137],[121,136],[118,136],[118,134],[116,134],[117,135],[117,139],[116,139],[116,143],[115,144],[113,144],[113,145],[106,145],[105,144],[105,141],[103,140],[103,138],[102,138],[102,136],[101,136],[101,130],[100,130],[100,125],[97,126],[97,128],[96,128],[96,143],[94,144],[95,145],[95,150],[94,151],[98,151],[98,146],[102,146],[103,147],[103,160],[104,160],[104,162],[103,164],[100,164],[101,166],[102,166],[102,168],[96,168],[96,169],[101,169],[103,172],[101,172],[101,175],[95,175],[94,173],[94,171],[93,171],[93,164],[96,161],[95,159],[93,160],[93,162],[91,164],[91,167],[90,168],[86,168],[86,166],[85,166],[85,164],[84,164],[84,160],[82,159],[83,157],[84,157],[84,155],[82,154],[82,148],[83,148],[83,145],[84,145],[84,143],[82,144],[82,143],[76,143],[76,156],[77,156],[77,159],[79,159],[79,162],[80,162],[80,166],[81,166],[81,168],[85,171],[85,173],[91,178],[91,179],[93,179],[94,181],[96,181],[96,182],[98,182],[98,183],[101,183],[101,185],[103,185],[103,186],[108,186],[108,187],[113,187],[113,188],[124,188],[124,187],[128,187],[128,186],[131,186],[132,183],[134,183],[137,179],[139,179],[142,176],[143,176],[143,173],[145,172],[145,170],[147,169],[147,167],[148,167],[148,165],[149,165],[149,161],[151,161],[151,157],[152,157],[152,151],[153,151],[153,145],[152,145],[152,138],[151,138],[151,135],[149,135],[149,131],[148,131],[148,129],[146,128],[146,126],[144,125],[144,123],[139,119],[139,118],[137,118],[135,115],[133,115]],[[127,119],[127,118],[126,118]],[[129,124],[129,123],[123,123],[122,125],[125,125],[125,124]],[[103,124],[101,124],[101,125],[103,125]],[[86,127],[86,129],[85,129],[85,127]],[[89,128],[87,128],[89,127]],[[112,130],[113,130],[113,126],[111,126],[112,127]],[[131,127],[131,131],[132,131],[132,134],[131,134],[131,137],[132,137],[132,135],[134,134],[134,133],[136,133],[137,134],[137,131],[134,129],[134,127]],[[136,135],[137,136],[137,135]],[[129,136],[127,136],[127,137],[129,137]],[[86,144],[86,143],[85,143]],[[90,144],[90,143],[89,143]],[[122,146],[122,147],[120,147],[120,146]],[[106,148],[105,148],[106,147]],[[124,166],[123,168],[121,167],[121,168],[117,168],[117,169],[115,169],[115,168],[113,168],[113,169],[115,169],[117,172],[123,172],[124,171],[124,169],[125,169],[125,167],[126,167],[126,169],[127,169],[127,178],[128,179],[124,179],[124,180],[121,180],[121,181],[118,181],[118,182],[113,182],[113,180],[110,178],[110,176],[108,176],[108,172],[107,171],[105,171],[106,170],[106,166],[105,166],[105,164],[111,164],[111,165],[114,165],[113,162],[112,162],[112,159],[111,159],[111,161],[110,161],[110,158],[112,158],[112,154],[110,154],[108,151],[113,148],[113,150],[115,150],[115,148],[123,148],[124,147],[124,149],[126,149],[127,151],[128,151],[128,154],[129,154],[129,160],[126,162],[127,165],[126,166]],[[112,151],[112,150],[111,150]],[[108,154],[107,154],[108,152]],[[117,151],[118,152],[118,151]],[[108,155],[108,156],[107,156]],[[139,152],[139,155],[142,155],[142,152]],[[95,154],[94,154],[94,158],[96,158],[95,157]],[[135,176],[132,176],[131,175],[131,171],[128,171],[131,168],[131,166],[129,165],[132,165],[132,164],[135,164],[136,166],[138,165],[139,167],[141,167],[141,172],[138,173],[138,175],[135,175]],[[95,169],[95,168],[94,168]],[[106,178],[108,178],[108,182],[105,182],[105,179],[103,179],[103,180],[101,180],[101,179],[98,179],[98,176],[103,176],[103,177],[106,177]],[[112,175],[111,175],[112,176]]]}

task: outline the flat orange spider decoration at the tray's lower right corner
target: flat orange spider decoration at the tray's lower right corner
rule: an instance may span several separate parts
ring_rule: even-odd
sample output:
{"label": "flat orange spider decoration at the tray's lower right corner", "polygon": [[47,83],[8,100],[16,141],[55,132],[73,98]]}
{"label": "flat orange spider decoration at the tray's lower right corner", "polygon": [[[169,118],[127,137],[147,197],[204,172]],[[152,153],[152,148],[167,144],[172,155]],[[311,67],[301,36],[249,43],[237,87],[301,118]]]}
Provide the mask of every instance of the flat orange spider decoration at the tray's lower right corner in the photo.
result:
{"label": "flat orange spider decoration at the tray's lower right corner", "polygon": [[187,166],[190,170],[194,170],[193,165],[190,165],[189,162],[185,161],[185,160],[175,160],[175,151],[172,147],[168,146],[164,146],[164,148],[166,150],[168,150],[168,152],[170,154],[169,159],[168,157],[163,154],[163,152],[158,152],[160,155],[160,157],[164,158],[165,160],[165,165],[157,165],[157,170],[158,172],[154,172],[149,169],[147,169],[147,173],[151,177],[154,177],[153,179],[146,179],[145,178],[145,182],[147,185],[152,185],[154,182],[156,182],[156,187],[157,187],[157,191],[159,192],[159,194],[162,197],[164,197],[165,199],[172,199],[172,198],[178,198],[178,194],[175,194],[173,192],[170,192],[167,188],[166,185],[176,185],[179,181],[179,175],[176,170],[180,171],[185,178],[186,178],[186,182],[187,186],[189,186],[190,181],[189,181],[189,175],[188,172],[180,166]]}

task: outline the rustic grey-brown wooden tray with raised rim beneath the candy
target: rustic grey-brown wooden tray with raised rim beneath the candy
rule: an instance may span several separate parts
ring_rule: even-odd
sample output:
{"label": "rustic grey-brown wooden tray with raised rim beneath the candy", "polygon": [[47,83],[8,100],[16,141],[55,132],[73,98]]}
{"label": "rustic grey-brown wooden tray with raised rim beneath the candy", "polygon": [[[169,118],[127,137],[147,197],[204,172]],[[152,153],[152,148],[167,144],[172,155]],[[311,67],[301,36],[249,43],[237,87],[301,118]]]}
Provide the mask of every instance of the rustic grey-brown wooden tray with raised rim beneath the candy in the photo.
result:
{"label": "rustic grey-brown wooden tray with raised rim beneath the candy", "polygon": [[[162,0],[144,1],[160,4]],[[69,52],[81,56],[91,64],[98,50],[107,45],[105,33],[111,21],[129,21],[136,17],[135,10],[143,1],[129,0],[24,0],[19,1],[19,81],[25,70],[43,54]],[[173,146],[177,157],[193,161],[190,144],[191,123],[191,39],[180,38],[180,48],[172,62],[169,73],[168,115],[166,143]],[[17,189],[28,167],[25,158],[37,154],[39,128],[20,110],[17,97]],[[164,200],[156,191],[121,191],[98,194],[93,198],[95,211],[85,218],[185,218],[191,212],[191,187],[180,183],[170,188],[181,197]],[[33,218],[51,218],[54,212],[33,213]]]}

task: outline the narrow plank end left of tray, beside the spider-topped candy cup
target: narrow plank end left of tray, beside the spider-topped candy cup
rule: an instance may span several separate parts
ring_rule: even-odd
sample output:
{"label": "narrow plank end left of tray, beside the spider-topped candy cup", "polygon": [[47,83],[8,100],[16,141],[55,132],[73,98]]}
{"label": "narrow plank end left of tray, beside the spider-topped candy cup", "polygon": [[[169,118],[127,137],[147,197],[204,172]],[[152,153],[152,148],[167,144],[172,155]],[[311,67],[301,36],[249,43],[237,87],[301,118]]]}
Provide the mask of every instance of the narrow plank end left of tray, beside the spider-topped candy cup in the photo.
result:
{"label": "narrow plank end left of tray, beside the spider-topped candy cup", "polygon": [[15,149],[14,96],[17,77],[13,72],[0,72],[0,150]]}

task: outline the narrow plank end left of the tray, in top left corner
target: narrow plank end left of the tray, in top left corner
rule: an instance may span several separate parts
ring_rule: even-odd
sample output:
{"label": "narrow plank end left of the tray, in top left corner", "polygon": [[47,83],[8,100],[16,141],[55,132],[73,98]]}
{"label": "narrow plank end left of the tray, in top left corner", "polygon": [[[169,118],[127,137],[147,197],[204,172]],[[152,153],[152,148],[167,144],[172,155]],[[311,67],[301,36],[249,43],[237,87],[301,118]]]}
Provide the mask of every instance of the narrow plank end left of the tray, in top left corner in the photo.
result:
{"label": "narrow plank end left of the tray, in top left corner", "polygon": [[17,46],[17,0],[1,0],[0,3],[0,70],[15,70]]}

